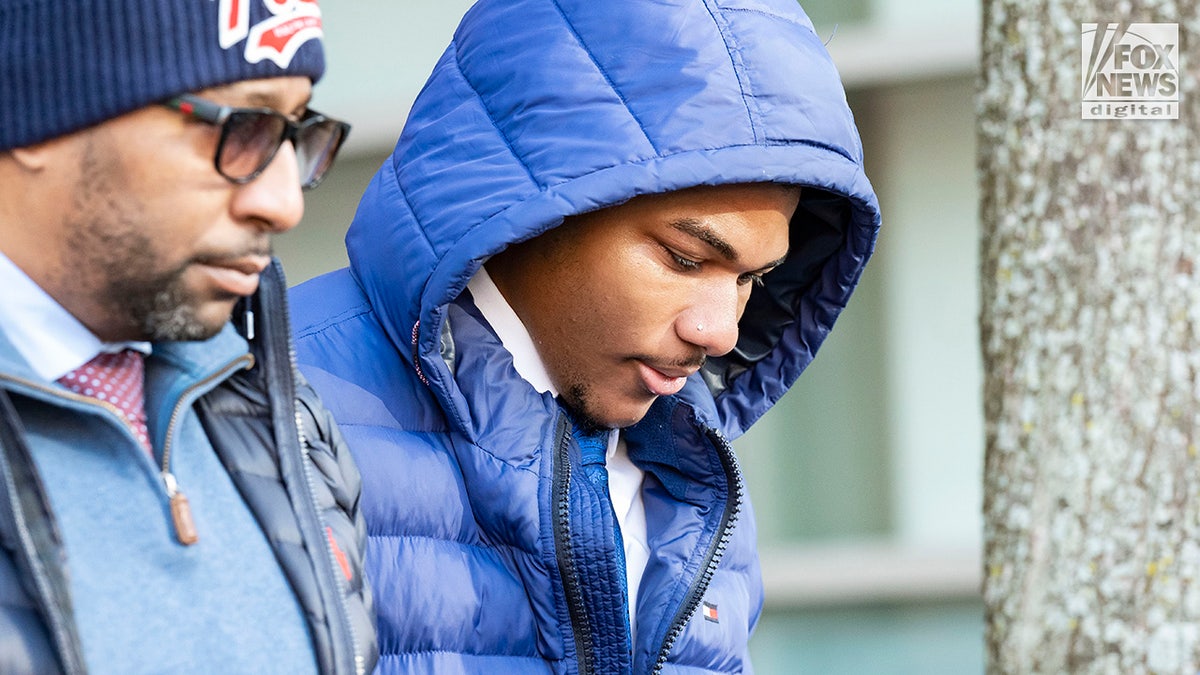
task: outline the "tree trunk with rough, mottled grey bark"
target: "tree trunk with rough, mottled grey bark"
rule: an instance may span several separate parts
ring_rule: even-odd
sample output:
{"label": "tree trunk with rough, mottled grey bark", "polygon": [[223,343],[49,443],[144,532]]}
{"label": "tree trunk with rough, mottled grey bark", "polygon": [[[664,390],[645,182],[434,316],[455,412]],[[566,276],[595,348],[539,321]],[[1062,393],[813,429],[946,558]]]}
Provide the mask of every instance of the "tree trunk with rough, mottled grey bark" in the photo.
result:
{"label": "tree trunk with rough, mottled grey bark", "polygon": [[[1200,670],[1195,5],[984,0],[991,674]],[[1081,22],[1178,23],[1180,119],[1080,119]]]}

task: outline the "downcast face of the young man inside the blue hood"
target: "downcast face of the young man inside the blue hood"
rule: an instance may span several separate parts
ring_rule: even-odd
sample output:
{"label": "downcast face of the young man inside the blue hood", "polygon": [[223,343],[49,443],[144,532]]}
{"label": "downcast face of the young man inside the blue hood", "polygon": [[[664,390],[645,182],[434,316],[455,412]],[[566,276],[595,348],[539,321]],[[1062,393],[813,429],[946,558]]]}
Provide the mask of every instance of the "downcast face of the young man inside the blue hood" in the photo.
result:
{"label": "downcast face of the young man inside the blue hood", "polygon": [[799,189],[697,187],[569,219],[487,263],[576,416],[640,420],[730,352],[757,279],[787,255]]}

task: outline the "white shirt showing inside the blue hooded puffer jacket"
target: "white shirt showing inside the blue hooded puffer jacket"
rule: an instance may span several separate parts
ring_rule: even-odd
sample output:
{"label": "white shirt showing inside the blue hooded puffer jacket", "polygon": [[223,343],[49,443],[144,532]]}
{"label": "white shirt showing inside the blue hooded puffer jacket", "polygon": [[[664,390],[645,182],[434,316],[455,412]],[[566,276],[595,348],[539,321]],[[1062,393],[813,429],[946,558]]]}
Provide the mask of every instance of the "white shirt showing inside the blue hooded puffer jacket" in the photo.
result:
{"label": "white shirt showing inside the blue hooded puffer jacket", "polygon": [[[538,354],[538,348],[529,336],[529,330],[512,311],[511,305],[500,294],[496,282],[482,267],[467,285],[475,300],[475,307],[484,315],[492,330],[500,338],[500,344],[512,354],[512,366],[517,375],[524,378],[539,393],[548,392],[557,396],[558,392],[550,381],[546,365]],[[617,514],[620,536],[625,544],[625,577],[629,585],[629,626],[637,635],[637,589],[650,558],[650,546],[646,533],[646,506],[642,502],[642,479],[646,472],[637,468],[629,459],[625,440],[613,430],[608,434],[608,497]]]}

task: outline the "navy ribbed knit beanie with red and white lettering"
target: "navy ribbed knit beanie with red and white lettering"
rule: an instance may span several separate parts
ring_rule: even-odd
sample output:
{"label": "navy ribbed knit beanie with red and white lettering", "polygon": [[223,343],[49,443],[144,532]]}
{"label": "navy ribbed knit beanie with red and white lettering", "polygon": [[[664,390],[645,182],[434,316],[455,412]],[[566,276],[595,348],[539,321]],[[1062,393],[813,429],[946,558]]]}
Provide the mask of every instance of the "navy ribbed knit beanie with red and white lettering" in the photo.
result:
{"label": "navy ribbed knit beanie with red and white lettering", "polygon": [[0,0],[0,150],[188,91],[325,71],[317,0]]}

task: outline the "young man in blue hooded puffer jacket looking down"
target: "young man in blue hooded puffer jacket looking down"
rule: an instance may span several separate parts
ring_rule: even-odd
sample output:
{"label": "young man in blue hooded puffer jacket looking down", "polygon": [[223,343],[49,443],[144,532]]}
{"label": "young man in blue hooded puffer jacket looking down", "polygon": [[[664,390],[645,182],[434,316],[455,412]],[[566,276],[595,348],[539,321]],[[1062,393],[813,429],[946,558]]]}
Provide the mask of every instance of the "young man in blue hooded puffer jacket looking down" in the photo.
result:
{"label": "young man in blue hooded puffer jacket looking down", "polygon": [[794,1],[475,4],[350,267],[293,291],[364,476],[378,671],[750,671],[730,441],[811,362],[878,222]]}

